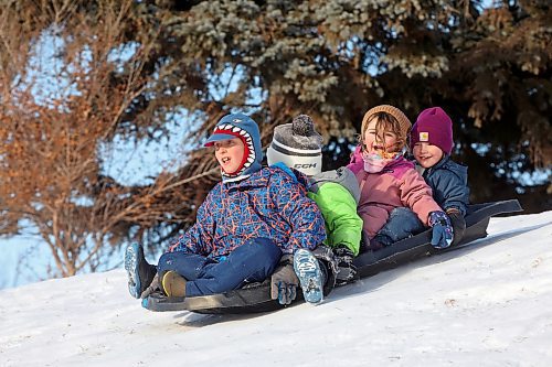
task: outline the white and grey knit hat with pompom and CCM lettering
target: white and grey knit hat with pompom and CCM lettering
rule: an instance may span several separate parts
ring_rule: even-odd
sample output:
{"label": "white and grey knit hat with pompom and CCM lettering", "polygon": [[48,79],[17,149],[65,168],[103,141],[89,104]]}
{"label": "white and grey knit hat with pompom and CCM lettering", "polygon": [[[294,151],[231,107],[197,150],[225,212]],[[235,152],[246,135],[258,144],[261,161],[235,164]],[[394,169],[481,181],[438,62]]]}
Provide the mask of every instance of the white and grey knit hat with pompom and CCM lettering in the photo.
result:
{"label": "white and grey knit hat with pompom and CCM lettering", "polygon": [[274,128],[270,147],[266,151],[268,165],[283,162],[306,175],[322,170],[322,137],[315,130],[315,122],[307,115],[299,115],[291,123]]}

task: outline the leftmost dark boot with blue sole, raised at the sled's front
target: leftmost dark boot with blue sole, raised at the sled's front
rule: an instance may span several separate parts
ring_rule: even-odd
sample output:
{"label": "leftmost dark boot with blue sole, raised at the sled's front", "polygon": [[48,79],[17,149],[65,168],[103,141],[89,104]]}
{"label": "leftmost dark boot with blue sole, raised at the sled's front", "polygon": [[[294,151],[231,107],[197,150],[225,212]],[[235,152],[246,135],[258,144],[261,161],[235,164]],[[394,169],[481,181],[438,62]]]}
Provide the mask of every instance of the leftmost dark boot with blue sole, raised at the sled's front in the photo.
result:
{"label": "leftmost dark boot with blue sole, raised at the sled's front", "polygon": [[128,291],[135,299],[148,288],[157,273],[157,268],[149,265],[139,244],[130,244],[125,250],[125,270],[128,277]]}

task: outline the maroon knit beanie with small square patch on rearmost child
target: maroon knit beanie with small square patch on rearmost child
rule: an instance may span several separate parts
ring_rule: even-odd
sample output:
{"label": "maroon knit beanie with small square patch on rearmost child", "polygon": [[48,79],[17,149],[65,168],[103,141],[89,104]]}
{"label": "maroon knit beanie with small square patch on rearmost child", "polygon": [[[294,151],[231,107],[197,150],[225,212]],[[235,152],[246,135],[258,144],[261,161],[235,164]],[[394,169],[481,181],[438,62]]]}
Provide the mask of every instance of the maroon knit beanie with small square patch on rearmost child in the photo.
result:
{"label": "maroon knit beanie with small square patch on rearmost child", "polygon": [[437,145],[447,154],[453,151],[453,121],[440,107],[424,109],[411,131],[411,148],[418,141]]}

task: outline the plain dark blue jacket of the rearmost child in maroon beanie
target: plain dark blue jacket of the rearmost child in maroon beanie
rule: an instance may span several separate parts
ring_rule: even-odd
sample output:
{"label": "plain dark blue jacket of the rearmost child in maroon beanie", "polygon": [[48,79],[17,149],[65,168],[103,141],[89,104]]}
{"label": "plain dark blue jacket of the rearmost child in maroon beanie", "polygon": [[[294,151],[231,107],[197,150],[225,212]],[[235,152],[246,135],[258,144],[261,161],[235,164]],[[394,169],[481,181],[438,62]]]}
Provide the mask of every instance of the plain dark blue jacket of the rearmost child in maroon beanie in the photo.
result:
{"label": "plain dark blue jacket of the rearmost child in maroon beanie", "polygon": [[423,170],[425,182],[432,187],[433,198],[445,211],[457,208],[466,215],[469,204],[468,168],[454,162],[449,155],[434,166]]}

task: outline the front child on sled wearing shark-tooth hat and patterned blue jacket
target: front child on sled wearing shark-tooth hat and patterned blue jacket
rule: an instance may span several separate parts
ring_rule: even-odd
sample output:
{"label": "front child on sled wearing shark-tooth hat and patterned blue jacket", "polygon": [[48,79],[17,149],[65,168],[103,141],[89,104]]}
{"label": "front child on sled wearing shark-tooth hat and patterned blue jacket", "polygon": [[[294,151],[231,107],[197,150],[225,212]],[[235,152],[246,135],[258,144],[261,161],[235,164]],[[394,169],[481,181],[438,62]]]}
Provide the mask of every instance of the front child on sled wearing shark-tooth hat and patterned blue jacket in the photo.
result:
{"label": "front child on sled wearing shark-tooth hat and patterned blue jacket", "polygon": [[[125,269],[130,294],[145,298],[156,288],[168,296],[222,293],[261,282],[283,253],[315,267],[309,251],[326,239],[322,216],[305,188],[278,169],[262,168],[258,127],[232,114],[215,126],[205,147],[214,147],[222,182],[198,209],[195,224],[172,244],[156,267],[138,244],[127,247]],[[157,273],[157,277],[156,277]],[[305,299],[321,301],[319,273],[306,271]]]}

